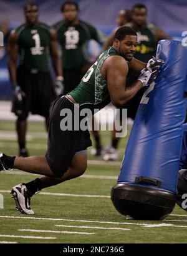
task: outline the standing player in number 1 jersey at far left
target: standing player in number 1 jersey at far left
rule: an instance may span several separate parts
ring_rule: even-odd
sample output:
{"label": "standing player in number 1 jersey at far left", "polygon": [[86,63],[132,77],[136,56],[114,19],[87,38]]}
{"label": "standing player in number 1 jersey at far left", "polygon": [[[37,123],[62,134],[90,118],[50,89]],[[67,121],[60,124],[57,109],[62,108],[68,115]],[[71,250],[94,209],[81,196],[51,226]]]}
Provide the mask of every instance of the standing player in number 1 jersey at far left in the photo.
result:
{"label": "standing player in number 1 jersey at far left", "polygon": [[[17,116],[16,130],[19,155],[27,157],[26,131],[27,116],[49,118],[50,102],[63,90],[62,67],[57,53],[57,34],[44,23],[38,21],[39,9],[36,3],[24,6],[26,22],[11,31],[8,40],[8,67],[12,82],[12,111]],[[56,74],[55,87],[49,72],[48,57]],[[17,59],[20,59],[17,67]]]}

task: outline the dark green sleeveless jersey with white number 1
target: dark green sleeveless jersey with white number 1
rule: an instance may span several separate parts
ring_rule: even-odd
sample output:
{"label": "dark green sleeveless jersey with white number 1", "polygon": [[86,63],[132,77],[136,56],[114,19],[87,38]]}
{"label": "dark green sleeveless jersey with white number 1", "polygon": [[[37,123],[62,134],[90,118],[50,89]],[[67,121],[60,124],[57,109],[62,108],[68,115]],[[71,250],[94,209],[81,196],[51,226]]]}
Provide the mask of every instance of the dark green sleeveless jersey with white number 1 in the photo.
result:
{"label": "dark green sleeveless jersey with white number 1", "polygon": [[28,70],[49,71],[50,27],[39,22],[36,26],[22,24],[16,31],[20,64]]}

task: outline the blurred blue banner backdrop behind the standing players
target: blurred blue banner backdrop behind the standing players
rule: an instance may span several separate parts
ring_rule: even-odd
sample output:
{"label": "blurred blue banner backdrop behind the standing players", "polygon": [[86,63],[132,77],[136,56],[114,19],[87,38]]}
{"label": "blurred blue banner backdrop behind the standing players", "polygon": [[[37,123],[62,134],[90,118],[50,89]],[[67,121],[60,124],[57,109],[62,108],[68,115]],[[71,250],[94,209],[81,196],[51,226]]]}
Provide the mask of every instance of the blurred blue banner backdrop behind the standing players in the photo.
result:
{"label": "blurred blue banner backdrop behind the standing players", "polygon": [[[2,21],[9,23],[9,29],[24,22],[24,0],[0,1],[0,27]],[[62,19],[60,6],[64,0],[37,0],[39,4],[40,20],[47,24],[54,24]],[[187,31],[187,1],[186,0],[75,0],[79,3],[80,19],[93,24],[98,29],[110,34],[116,27],[116,17],[120,9],[131,9],[133,4],[143,3],[148,8],[148,22],[161,27],[173,39],[180,40],[183,31]],[[0,29],[1,30],[1,29]],[[187,32],[186,32],[187,34]],[[90,45],[89,51],[98,51],[95,44]],[[11,86],[7,72],[6,52],[0,48],[0,99],[11,97]]]}

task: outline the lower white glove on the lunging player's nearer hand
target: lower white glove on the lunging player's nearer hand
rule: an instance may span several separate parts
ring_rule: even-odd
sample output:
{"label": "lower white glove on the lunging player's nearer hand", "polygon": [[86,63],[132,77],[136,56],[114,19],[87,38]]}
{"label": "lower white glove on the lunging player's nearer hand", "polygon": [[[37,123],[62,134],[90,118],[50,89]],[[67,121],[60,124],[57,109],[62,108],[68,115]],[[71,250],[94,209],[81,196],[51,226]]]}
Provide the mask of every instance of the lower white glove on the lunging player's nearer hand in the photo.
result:
{"label": "lower white glove on the lunging player's nearer hand", "polygon": [[155,69],[155,71],[153,72],[148,71],[146,68],[142,69],[142,71],[140,72],[140,76],[137,80],[140,80],[142,82],[143,87],[149,86],[151,82],[155,81],[156,76],[159,72],[159,69]]}

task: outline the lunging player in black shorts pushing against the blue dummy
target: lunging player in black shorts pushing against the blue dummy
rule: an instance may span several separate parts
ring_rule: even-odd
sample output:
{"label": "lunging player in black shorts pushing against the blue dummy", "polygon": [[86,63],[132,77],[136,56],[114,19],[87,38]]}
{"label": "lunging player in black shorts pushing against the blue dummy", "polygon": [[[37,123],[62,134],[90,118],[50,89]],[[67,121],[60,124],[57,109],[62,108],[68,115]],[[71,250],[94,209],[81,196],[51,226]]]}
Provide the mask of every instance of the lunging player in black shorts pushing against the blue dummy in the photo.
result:
{"label": "lunging player in black shorts pushing against the blue dummy", "polygon": [[[30,197],[37,191],[82,175],[87,168],[87,147],[92,145],[88,130],[60,129],[60,112],[70,109],[74,120],[74,104],[80,109],[102,109],[110,101],[115,106],[132,99],[143,86],[154,81],[158,70],[143,69],[146,64],[133,58],[137,46],[137,33],[130,27],[121,27],[115,34],[113,47],[103,52],[87,71],[79,86],[67,96],[59,97],[50,108],[48,149],[45,157],[10,157],[0,155],[1,169],[17,168],[45,176],[12,188],[16,207],[26,214],[34,214],[29,207]],[[148,62],[153,68],[161,64]],[[141,71],[141,69],[143,69]],[[125,87],[128,71],[141,74],[132,86]],[[97,79],[96,79],[97,77]],[[73,126],[74,127],[74,126]]]}

